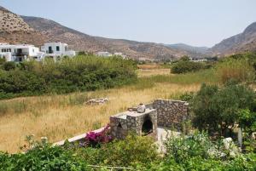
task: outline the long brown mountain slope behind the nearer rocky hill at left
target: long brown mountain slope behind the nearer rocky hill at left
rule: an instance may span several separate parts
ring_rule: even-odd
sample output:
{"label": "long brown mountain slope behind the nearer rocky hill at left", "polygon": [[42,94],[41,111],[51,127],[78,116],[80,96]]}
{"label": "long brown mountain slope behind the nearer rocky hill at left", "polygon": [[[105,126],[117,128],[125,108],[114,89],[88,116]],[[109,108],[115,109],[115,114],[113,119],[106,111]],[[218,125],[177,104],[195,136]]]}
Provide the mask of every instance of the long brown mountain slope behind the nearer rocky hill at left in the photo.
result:
{"label": "long brown mountain slope behind the nearer rocky hill at left", "polygon": [[132,58],[147,58],[151,60],[170,59],[186,54],[185,51],[168,48],[157,43],[142,43],[124,39],[111,39],[92,37],[66,26],[61,26],[53,20],[38,17],[21,16],[35,31],[48,37],[49,42],[68,43],[75,50],[90,52],[108,51],[111,53],[122,52]]}

